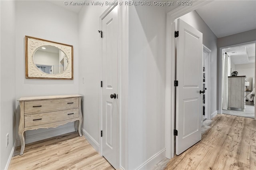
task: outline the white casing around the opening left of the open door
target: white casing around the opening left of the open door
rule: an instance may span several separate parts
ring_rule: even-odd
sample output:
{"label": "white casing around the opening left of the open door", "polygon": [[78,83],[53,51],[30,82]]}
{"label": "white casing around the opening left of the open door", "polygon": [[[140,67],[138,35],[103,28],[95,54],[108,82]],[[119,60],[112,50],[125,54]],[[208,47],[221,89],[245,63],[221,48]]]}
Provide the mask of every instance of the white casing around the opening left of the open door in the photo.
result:
{"label": "white casing around the opening left of the open door", "polygon": [[166,14],[166,86],[165,86],[165,146],[166,158],[174,157],[174,80],[175,80],[175,19],[212,1],[193,1],[192,6],[180,6]]}

